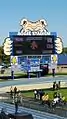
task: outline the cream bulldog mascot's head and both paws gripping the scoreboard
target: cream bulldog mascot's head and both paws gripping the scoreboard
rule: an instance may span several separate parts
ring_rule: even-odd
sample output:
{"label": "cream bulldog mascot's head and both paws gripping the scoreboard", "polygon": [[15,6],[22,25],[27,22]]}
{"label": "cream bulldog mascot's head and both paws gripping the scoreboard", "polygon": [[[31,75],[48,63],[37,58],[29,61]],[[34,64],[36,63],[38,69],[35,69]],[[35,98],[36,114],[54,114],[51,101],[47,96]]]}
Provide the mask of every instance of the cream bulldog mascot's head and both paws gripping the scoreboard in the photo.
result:
{"label": "cream bulldog mascot's head and both paws gripping the scoreboard", "polygon": [[[22,19],[20,21],[20,26],[20,33],[18,32],[17,35],[50,35],[50,32],[47,30],[47,21],[44,19],[36,22]],[[62,52],[63,43],[60,37],[55,39],[55,49],[57,54]],[[11,55],[12,53],[12,41],[8,37],[4,40],[4,53],[6,55]]]}

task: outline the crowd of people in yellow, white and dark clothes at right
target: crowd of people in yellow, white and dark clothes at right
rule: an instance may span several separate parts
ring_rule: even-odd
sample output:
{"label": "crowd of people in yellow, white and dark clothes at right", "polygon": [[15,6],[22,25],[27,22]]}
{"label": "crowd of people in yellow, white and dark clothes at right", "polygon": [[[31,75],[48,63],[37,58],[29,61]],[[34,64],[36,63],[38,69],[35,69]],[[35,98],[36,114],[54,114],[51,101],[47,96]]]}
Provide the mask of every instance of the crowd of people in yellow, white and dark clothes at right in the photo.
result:
{"label": "crowd of people in yellow, white and dark clothes at right", "polygon": [[58,91],[54,92],[53,100],[49,98],[49,94],[41,90],[34,90],[34,98],[41,100],[42,104],[47,104],[49,107],[56,106],[56,104],[65,104],[65,97]]}

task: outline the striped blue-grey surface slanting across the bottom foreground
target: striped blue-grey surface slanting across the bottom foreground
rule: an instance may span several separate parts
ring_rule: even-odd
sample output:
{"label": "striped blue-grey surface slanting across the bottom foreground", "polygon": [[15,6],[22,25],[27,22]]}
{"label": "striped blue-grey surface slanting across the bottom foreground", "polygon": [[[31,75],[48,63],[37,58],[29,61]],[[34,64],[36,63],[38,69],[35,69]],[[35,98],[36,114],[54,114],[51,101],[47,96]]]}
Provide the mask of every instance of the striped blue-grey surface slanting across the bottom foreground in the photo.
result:
{"label": "striped blue-grey surface slanting across the bottom foreground", "polygon": [[[1,111],[2,108],[6,109],[7,114],[15,112],[14,105],[11,105],[11,104],[0,102],[0,111]],[[21,113],[22,112],[31,113],[33,115],[34,119],[66,119],[64,117],[60,117],[60,116],[53,115],[53,114],[48,114],[48,113],[45,113],[45,112],[36,111],[36,110],[33,110],[33,109],[28,109],[28,108],[21,107],[21,106],[19,106],[18,112],[19,113],[20,112]]]}

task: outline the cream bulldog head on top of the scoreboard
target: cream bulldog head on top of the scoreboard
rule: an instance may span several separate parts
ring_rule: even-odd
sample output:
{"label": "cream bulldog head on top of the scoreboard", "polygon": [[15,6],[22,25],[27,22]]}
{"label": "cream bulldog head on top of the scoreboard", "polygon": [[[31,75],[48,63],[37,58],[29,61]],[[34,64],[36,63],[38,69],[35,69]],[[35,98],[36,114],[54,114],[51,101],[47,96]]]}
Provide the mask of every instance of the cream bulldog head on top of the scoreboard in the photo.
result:
{"label": "cream bulldog head on top of the scoreboard", "polygon": [[20,22],[22,35],[46,35],[49,34],[47,30],[47,22],[44,19],[38,20],[36,22],[28,21],[27,19],[22,19]]}

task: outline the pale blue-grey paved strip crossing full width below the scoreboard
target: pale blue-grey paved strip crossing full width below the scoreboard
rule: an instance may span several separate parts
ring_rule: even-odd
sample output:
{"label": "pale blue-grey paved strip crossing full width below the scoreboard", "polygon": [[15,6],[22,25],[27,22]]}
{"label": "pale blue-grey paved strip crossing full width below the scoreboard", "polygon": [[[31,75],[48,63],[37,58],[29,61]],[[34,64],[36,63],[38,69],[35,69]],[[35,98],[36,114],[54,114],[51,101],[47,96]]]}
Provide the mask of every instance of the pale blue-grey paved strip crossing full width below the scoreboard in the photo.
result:
{"label": "pale blue-grey paved strip crossing full width below the scoreboard", "polygon": [[11,86],[11,85],[29,85],[29,84],[43,84],[51,83],[54,81],[65,81],[67,83],[67,76],[56,76],[56,77],[40,77],[40,78],[21,78],[15,80],[8,80],[5,82],[0,82],[0,87]]}

